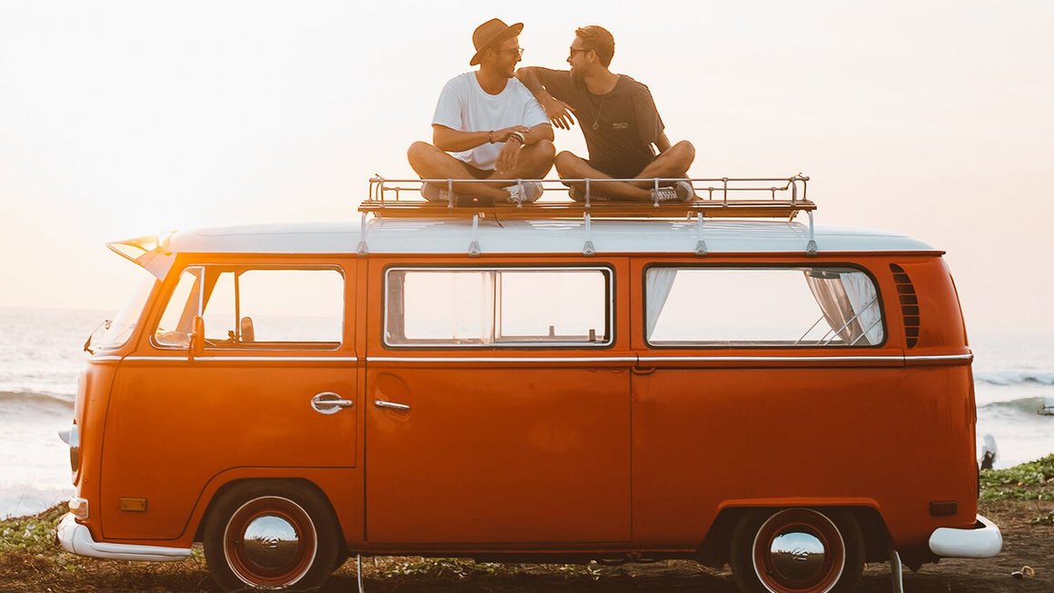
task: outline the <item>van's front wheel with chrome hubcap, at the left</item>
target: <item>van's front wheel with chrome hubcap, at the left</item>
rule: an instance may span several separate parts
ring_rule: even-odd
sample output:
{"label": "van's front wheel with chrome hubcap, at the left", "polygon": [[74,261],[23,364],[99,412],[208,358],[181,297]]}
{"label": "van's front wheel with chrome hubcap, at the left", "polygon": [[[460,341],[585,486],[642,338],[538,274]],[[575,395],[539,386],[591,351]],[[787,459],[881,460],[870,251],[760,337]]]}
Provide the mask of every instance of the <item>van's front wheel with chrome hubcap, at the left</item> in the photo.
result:
{"label": "van's front wheel with chrome hubcap, at the left", "polygon": [[223,491],[206,519],[209,573],[225,590],[318,587],[335,570],[340,529],[318,490],[248,482]]}

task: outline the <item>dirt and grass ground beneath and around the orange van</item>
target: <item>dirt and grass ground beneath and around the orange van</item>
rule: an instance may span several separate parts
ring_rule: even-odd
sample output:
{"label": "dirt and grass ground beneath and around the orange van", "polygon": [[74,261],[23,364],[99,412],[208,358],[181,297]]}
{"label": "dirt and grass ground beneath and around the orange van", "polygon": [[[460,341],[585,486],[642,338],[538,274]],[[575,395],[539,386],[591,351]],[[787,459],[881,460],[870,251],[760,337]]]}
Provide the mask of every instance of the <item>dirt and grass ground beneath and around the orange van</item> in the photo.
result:
{"label": "dirt and grass ground beneath and around the orange van", "polygon": [[[999,525],[1003,549],[995,558],[942,560],[913,573],[905,569],[910,593],[1051,593],[1054,592],[1054,526],[1029,521],[1054,503],[1000,501],[982,512]],[[173,564],[142,564],[77,558],[60,550],[44,554],[0,556],[0,592],[151,592],[218,591],[199,554]],[[1032,578],[1014,571],[1031,567]],[[710,570],[690,561],[648,565],[474,565],[471,561],[421,561],[383,557],[364,560],[365,589],[370,593],[591,593],[737,591],[727,569]],[[355,562],[349,560],[320,592],[356,591]],[[892,591],[889,564],[868,565],[859,593]]]}

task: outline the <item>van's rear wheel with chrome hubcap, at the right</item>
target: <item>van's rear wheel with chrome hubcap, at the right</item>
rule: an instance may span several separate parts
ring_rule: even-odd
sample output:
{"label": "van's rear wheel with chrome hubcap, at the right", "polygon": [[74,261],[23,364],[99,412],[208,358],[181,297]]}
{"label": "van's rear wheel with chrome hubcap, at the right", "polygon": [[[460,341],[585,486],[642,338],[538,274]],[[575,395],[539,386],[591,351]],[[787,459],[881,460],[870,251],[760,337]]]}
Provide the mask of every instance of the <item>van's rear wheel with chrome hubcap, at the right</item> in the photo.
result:
{"label": "van's rear wheel with chrome hubcap, at the right", "polygon": [[764,509],[736,526],[728,564],[743,593],[850,593],[863,554],[860,526],[845,510]]}

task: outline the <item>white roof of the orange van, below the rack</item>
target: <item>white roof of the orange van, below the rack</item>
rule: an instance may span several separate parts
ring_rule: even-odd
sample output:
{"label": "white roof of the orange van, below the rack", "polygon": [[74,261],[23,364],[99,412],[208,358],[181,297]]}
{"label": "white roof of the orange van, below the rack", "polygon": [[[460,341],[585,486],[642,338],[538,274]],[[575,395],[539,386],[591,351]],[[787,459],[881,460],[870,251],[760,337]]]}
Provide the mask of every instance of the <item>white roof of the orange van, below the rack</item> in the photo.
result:
{"label": "white roof of the orange van, below the rack", "polygon": [[[804,253],[807,223],[768,220],[504,220],[371,218],[360,222],[250,224],[175,233],[176,253],[597,254]],[[937,252],[905,235],[817,225],[819,253]],[[940,252],[937,252],[940,253]]]}

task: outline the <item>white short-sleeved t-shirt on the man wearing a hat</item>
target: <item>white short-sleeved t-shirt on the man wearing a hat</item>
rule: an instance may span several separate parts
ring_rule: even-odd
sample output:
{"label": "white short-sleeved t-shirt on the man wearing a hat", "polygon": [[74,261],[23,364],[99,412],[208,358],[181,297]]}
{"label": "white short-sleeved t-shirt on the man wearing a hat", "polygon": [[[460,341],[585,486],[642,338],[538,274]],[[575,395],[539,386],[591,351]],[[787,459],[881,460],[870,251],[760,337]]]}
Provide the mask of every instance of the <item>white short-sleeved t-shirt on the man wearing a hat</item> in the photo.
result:
{"label": "white short-sleeved t-shirt on the man wearing a hat", "polygon": [[[432,116],[432,123],[458,132],[490,132],[510,125],[532,127],[548,121],[545,110],[522,82],[510,78],[504,91],[491,95],[480,86],[474,71],[446,83]],[[490,170],[494,169],[501,147],[497,143],[486,143],[451,155],[476,169]]]}

